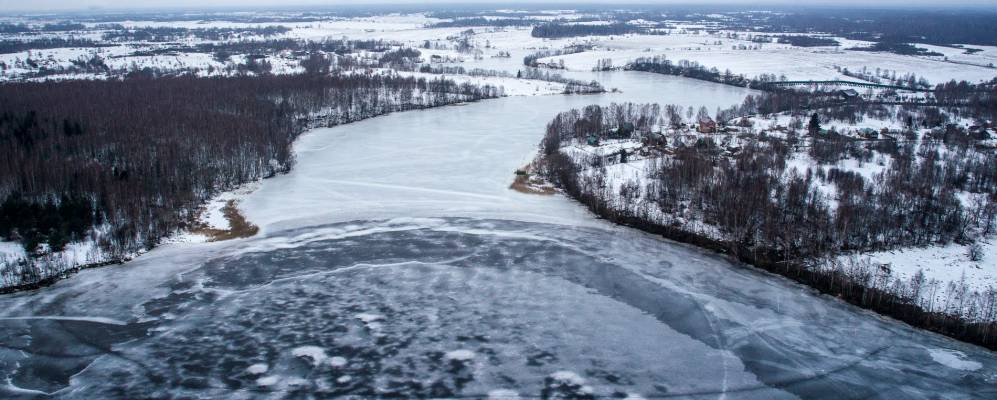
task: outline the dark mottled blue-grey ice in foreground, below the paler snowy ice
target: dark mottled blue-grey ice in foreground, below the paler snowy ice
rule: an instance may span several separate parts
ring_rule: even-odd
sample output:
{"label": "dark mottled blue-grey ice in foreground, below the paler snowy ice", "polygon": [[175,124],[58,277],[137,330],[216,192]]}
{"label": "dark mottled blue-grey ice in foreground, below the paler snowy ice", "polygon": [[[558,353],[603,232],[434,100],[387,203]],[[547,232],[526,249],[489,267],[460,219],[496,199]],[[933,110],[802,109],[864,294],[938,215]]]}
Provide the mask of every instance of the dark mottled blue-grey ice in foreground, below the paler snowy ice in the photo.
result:
{"label": "dark mottled blue-grey ice in foreground, below the paler snowy ice", "polygon": [[[18,341],[30,337],[37,344],[0,352],[15,363],[3,372],[18,387],[46,392],[72,376],[65,393],[74,398],[211,397],[239,387],[361,397],[473,397],[514,388],[526,397],[546,390],[972,398],[995,384],[992,353],[610,225],[350,221],[248,242],[257,242],[254,250],[219,248],[172,279],[130,282],[130,289],[167,286],[131,297],[146,322],[0,320],[0,343],[24,348]],[[148,260],[131,269],[162,267]],[[74,283],[52,288],[51,295],[72,299],[65,305],[40,299],[5,310],[116,308]],[[74,339],[118,331],[104,335],[113,355]],[[64,337],[57,348],[42,344],[52,335]],[[48,365],[51,354],[80,361],[56,363],[68,368],[58,375],[65,377],[42,384],[25,366]],[[958,368],[932,367],[937,362]]]}

